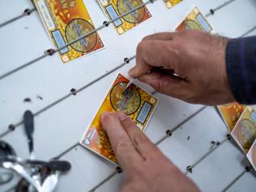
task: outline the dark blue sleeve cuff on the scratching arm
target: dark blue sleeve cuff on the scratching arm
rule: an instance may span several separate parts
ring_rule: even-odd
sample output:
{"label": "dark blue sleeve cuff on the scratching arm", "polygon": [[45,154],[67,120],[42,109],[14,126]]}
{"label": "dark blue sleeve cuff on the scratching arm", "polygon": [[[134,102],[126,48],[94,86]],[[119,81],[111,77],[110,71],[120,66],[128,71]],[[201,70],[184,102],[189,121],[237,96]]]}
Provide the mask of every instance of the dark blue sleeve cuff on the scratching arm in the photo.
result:
{"label": "dark blue sleeve cuff on the scratching arm", "polygon": [[256,36],[228,41],[226,67],[235,99],[241,104],[256,104]]}

